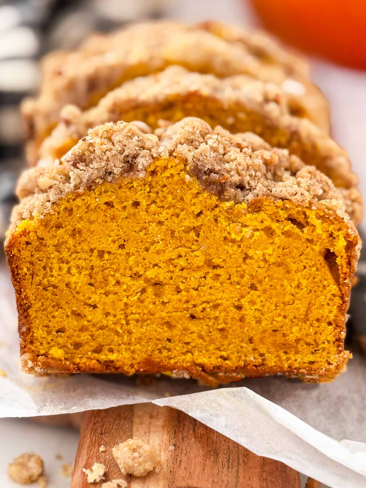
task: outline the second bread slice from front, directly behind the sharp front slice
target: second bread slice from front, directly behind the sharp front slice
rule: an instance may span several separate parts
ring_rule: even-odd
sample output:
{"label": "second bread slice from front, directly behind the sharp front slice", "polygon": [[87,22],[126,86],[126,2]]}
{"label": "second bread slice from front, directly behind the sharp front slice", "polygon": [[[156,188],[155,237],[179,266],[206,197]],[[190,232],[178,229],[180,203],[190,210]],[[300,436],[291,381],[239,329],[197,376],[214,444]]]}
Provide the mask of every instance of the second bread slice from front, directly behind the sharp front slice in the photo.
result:
{"label": "second bread slice from front, directly behind the sharp front slice", "polygon": [[362,219],[358,179],[346,151],[307,119],[290,114],[285,92],[245,75],[225,79],[192,73],[181,66],[139,77],[109,92],[96,107],[81,111],[66,105],[61,122],[40,148],[40,157],[60,158],[88,129],[105,122],[143,121],[152,129],[161,120],[199,117],[211,127],[233,133],[253,132],[272,146],[283,147],[304,163],[317,166],[336,186],[345,188],[346,210],[357,225]]}

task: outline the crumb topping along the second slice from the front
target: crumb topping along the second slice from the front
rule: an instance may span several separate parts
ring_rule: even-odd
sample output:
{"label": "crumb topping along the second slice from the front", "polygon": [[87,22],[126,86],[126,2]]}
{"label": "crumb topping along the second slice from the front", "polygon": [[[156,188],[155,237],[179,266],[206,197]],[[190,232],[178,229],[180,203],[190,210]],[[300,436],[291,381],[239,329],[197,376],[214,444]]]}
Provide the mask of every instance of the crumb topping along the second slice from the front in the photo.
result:
{"label": "crumb topping along the second slice from the front", "polygon": [[[75,105],[66,105],[61,111],[61,122],[41,145],[39,165],[47,164],[48,158],[52,160],[65,142],[78,141],[87,135],[90,127],[124,120],[131,110],[142,110],[143,107],[150,112],[167,101],[184,104],[190,96],[200,96],[203,103],[215,100],[223,108],[235,106],[231,124],[240,124],[242,118],[248,119],[248,113],[255,113],[264,121],[264,127],[261,128],[257,119],[253,125],[266,133],[269,142],[271,137],[278,137],[270,136],[271,133],[285,134],[285,145],[290,147],[290,152],[298,153],[299,147],[302,148],[304,162],[313,164],[316,159],[315,165],[320,165],[321,170],[336,181],[336,186],[353,189],[357,184],[346,151],[307,119],[292,116],[288,98],[281,88],[245,75],[220,79],[214,75],[191,73],[181,66],[170,66],[162,73],[126,82],[109,92],[97,106],[84,112]],[[143,122],[132,123],[144,133],[151,132]],[[45,178],[40,184],[47,188],[52,180]],[[347,211],[354,216],[353,220],[360,220],[362,212],[356,204],[350,203]]]}

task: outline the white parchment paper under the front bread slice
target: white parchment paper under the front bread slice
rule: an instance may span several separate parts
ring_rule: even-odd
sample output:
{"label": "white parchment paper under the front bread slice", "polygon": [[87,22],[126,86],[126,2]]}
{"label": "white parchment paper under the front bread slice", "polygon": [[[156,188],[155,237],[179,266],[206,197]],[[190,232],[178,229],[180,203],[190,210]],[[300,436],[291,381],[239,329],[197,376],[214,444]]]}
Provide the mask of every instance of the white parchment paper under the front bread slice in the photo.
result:
{"label": "white parchment paper under the front bread slice", "polygon": [[283,461],[325,485],[366,487],[366,360],[358,354],[343,375],[323,385],[283,377],[245,379],[218,389],[169,378],[143,385],[121,375],[33,378],[19,369],[14,291],[3,266],[0,368],[7,375],[0,377],[1,417],[152,401],[179,408],[256,454]]}

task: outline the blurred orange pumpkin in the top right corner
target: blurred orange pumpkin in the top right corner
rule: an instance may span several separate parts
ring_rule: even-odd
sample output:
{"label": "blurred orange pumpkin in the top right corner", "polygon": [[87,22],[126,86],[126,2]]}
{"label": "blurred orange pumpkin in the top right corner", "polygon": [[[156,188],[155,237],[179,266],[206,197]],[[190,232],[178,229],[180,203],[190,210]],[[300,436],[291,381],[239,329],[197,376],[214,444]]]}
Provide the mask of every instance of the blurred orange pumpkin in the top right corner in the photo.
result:
{"label": "blurred orange pumpkin in the top right corner", "polygon": [[366,0],[251,0],[273,33],[301,49],[366,69]]}

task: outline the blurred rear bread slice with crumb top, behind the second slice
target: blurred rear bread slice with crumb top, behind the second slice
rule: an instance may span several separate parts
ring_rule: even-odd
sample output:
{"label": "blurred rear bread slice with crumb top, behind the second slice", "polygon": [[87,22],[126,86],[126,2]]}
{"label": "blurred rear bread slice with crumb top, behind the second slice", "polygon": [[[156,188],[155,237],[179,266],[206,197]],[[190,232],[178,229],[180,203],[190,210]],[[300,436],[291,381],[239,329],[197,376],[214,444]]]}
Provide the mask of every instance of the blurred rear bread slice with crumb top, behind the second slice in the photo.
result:
{"label": "blurred rear bread slice with crumb top, behind the second slice", "polygon": [[[94,35],[76,51],[51,53],[44,58],[40,94],[22,103],[29,162],[37,162],[39,145],[59,122],[66,103],[88,108],[123,81],[171,64],[219,77],[244,73],[279,85],[285,83],[284,87],[290,88],[287,91],[294,113],[315,123],[320,112],[328,113],[327,102],[309,81],[303,61],[294,63],[289,76],[287,59],[284,63],[281,56],[267,62],[244,43],[225,41],[202,28],[168,21],[144,22],[107,36]],[[295,91],[291,89],[294,83]]]}

